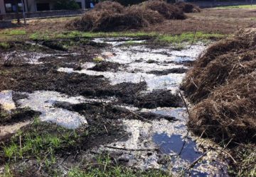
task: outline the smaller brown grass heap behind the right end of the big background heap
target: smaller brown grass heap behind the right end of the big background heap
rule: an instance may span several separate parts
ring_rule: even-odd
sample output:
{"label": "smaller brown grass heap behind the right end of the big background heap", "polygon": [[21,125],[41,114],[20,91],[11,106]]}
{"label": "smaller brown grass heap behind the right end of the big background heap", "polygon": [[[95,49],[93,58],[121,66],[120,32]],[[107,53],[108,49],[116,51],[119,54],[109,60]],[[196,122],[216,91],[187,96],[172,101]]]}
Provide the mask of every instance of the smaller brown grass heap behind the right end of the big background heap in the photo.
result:
{"label": "smaller brown grass heap behind the right end of the big background heap", "polygon": [[178,8],[177,6],[171,4],[167,4],[165,1],[151,0],[145,1],[139,5],[144,6],[145,8],[149,8],[152,11],[158,11],[166,19],[183,20],[186,18],[181,8]]}

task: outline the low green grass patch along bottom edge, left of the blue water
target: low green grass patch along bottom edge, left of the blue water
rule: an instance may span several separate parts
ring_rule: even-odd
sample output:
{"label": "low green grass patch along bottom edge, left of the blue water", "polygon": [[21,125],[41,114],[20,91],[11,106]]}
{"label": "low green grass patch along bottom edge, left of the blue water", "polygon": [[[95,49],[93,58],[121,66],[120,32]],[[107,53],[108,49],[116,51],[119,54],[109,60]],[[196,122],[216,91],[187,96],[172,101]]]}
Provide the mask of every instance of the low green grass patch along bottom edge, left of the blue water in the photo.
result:
{"label": "low green grass patch along bottom edge, left of the blue water", "polygon": [[129,169],[125,166],[115,164],[114,160],[107,156],[97,156],[96,163],[86,164],[85,166],[75,167],[68,171],[69,177],[87,177],[87,176],[116,176],[116,177],[165,177],[170,174],[159,171],[149,170],[142,171],[139,169]]}

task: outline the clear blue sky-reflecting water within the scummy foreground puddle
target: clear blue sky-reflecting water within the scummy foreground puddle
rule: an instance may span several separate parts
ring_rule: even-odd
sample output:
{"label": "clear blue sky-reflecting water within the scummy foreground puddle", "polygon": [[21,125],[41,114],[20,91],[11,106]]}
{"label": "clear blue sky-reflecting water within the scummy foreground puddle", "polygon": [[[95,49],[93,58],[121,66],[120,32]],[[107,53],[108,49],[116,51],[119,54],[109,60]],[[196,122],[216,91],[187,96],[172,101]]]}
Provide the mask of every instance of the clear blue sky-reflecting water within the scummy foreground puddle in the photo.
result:
{"label": "clear blue sky-reflecting water within the scummy foreground puddle", "polygon": [[175,152],[180,154],[181,159],[186,161],[195,161],[201,156],[200,152],[196,152],[196,142],[191,139],[182,139],[181,135],[171,135],[169,137],[166,134],[154,134],[153,140],[159,145],[161,152],[165,154],[171,154]]}

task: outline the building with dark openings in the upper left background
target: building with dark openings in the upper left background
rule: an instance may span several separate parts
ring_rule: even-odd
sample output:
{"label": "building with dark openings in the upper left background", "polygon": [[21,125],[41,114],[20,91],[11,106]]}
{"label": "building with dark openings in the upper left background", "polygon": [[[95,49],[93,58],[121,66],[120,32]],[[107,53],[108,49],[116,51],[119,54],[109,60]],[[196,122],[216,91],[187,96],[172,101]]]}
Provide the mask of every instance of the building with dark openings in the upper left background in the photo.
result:
{"label": "building with dark openings in the upper left background", "polygon": [[[22,0],[18,0],[18,8],[22,9]],[[75,0],[81,9],[85,9],[87,0]],[[53,0],[23,0],[26,12],[50,11],[53,9],[55,1]],[[0,0],[0,14],[14,13],[16,5],[14,0]],[[22,10],[21,10],[22,11]]]}

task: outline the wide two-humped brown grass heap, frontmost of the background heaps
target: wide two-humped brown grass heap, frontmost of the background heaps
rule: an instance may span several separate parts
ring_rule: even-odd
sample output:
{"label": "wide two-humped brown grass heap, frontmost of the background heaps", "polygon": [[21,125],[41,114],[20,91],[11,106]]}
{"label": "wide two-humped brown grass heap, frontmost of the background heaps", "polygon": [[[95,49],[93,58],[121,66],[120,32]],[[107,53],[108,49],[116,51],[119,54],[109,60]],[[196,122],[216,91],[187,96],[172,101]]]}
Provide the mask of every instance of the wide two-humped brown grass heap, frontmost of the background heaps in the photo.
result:
{"label": "wide two-humped brown grass heap, frontmost of the background heaps", "polygon": [[92,10],[73,21],[71,25],[86,31],[112,31],[142,28],[163,21],[163,17],[156,11],[131,6],[126,8],[124,13],[114,13],[105,9],[102,11]]}

